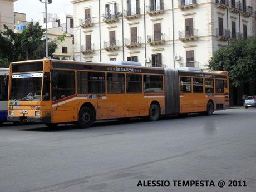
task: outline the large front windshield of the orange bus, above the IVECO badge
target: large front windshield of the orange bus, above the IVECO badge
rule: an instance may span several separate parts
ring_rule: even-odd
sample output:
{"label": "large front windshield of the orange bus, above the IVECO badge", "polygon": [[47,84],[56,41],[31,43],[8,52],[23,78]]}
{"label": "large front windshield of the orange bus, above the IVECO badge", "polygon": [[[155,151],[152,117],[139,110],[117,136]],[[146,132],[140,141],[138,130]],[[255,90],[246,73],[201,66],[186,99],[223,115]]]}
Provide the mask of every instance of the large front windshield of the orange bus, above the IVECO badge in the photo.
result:
{"label": "large front windshield of the orange bus, above the IVECO badge", "polygon": [[10,101],[40,101],[43,73],[12,75]]}

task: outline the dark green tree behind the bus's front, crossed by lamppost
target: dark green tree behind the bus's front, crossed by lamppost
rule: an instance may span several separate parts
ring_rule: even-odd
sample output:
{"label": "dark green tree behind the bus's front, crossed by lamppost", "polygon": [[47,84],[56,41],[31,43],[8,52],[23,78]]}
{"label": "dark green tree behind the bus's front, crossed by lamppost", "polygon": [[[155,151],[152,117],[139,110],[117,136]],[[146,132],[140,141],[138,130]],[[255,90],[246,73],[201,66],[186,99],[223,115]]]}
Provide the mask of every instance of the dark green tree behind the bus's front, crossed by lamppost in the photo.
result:
{"label": "dark green tree behind the bus's front, crossed by lamppost", "polygon": [[[46,42],[44,37],[45,29],[39,23],[30,23],[21,33],[14,33],[7,26],[0,31],[0,67],[8,67],[6,63],[23,60],[34,60],[45,57]],[[48,55],[58,48],[66,34],[55,40],[48,41]]]}

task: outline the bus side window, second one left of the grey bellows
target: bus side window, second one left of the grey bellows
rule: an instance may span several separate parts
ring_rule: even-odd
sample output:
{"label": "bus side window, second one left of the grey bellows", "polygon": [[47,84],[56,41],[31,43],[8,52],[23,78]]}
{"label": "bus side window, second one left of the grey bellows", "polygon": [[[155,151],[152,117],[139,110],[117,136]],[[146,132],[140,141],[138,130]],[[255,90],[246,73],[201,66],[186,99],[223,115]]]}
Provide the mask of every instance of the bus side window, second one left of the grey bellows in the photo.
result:
{"label": "bus side window, second one left of the grey bellows", "polygon": [[126,75],[126,93],[142,93],[141,75]]}

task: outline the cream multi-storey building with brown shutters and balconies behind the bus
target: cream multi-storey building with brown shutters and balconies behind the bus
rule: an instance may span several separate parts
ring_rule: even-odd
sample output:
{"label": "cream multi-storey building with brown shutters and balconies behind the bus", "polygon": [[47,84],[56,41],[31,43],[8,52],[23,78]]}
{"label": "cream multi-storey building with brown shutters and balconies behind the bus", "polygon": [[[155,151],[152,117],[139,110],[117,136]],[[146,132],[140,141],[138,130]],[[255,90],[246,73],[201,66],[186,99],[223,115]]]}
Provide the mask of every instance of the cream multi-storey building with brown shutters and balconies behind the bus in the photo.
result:
{"label": "cream multi-storey building with brown shutters and balconies behind the bus", "polygon": [[204,70],[219,47],[255,35],[254,0],[71,2],[75,60],[80,60],[80,26],[82,61],[125,60]]}

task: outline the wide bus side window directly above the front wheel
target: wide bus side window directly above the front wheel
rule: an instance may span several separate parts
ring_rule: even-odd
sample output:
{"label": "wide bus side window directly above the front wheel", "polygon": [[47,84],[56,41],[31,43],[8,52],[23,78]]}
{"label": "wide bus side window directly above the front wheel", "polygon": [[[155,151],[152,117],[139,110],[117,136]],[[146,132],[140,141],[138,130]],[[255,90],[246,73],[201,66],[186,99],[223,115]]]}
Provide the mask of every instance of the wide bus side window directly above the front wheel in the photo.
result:
{"label": "wide bus side window directly above the front wheel", "polygon": [[77,93],[105,93],[105,73],[77,71]]}

